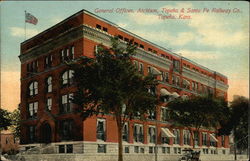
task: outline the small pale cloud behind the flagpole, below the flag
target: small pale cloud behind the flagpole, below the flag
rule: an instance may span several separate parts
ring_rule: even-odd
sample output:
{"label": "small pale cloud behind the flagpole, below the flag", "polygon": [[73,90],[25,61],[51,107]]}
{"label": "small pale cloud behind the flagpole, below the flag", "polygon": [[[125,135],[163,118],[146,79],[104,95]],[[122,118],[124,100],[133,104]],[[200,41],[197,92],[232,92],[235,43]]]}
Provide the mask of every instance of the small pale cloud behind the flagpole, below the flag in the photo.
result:
{"label": "small pale cloud behind the flagpole, below the flag", "polygon": [[[38,34],[39,31],[36,29],[26,29],[26,37],[32,37]],[[21,27],[11,27],[10,34],[14,37],[24,37],[25,31]]]}

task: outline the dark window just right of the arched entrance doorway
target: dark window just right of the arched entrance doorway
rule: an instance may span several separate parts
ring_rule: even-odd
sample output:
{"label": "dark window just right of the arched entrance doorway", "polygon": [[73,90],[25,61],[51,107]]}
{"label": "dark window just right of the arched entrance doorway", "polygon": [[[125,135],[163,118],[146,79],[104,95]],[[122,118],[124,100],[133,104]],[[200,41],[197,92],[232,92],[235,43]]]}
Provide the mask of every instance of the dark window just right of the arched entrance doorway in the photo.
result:
{"label": "dark window just right of the arched entrance doorway", "polygon": [[60,124],[61,140],[73,139],[73,120],[63,120]]}

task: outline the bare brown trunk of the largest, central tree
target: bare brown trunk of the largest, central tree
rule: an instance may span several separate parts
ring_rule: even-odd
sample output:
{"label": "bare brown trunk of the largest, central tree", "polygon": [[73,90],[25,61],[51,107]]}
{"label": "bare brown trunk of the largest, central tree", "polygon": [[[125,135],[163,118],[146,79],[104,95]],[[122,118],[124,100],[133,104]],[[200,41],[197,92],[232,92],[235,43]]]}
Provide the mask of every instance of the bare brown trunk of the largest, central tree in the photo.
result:
{"label": "bare brown trunk of the largest, central tree", "polygon": [[123,146],[122,146],[122,119],[121,116],[116,116],[117,134],[118,134],[118,161],[123,161]]}

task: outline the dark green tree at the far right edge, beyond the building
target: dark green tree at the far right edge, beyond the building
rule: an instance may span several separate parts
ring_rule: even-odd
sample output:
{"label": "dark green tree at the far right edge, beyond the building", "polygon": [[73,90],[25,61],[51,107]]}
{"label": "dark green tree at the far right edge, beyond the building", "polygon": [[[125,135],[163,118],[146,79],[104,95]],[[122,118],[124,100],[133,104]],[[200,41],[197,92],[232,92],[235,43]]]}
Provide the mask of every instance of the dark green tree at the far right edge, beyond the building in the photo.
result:
{"label": "dark green tree at the far right edge, beyond the building", "polygon": [[249,99],[240,96],[233,100],[230,106],[230,119],[219,129],[220,135],[234,134],[234,143],[239,151],[248,146],[248,111]]}

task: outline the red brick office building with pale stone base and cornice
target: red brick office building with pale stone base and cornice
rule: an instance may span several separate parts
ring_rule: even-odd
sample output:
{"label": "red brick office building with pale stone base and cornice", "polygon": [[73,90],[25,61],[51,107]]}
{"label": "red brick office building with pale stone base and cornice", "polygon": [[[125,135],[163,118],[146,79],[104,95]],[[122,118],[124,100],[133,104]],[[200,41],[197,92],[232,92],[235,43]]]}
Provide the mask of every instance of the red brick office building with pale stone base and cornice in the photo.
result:
{"label": "red brick office building with pale stone base and cornice", "polygon": [[[180,154],[193,145],[185,128],[170,128],[167,102],[176,97],[213,93],[227,99],[227,77],[151,43],[116,24],[82,10],[21,44],[21,117],[23,148],[51,143],[59,153],[117,153],[116,122],[110,115],[82,121],[70,97],[76,91],[73,71],[65,60],[93,57],[97,44],[110,46],[110,37],[134,39],[134,64],[143,74],[152,70],[163,96],[148,121],[132,120],[123,132],[125,153]],[[155,121],[157,120],[157,121]],[[157,133],[157,134],[156,134]],[[157,139],[156,139],[157,136]],[[229,138],[215,131],[196,133],[195,144],[204,154],[227,154]]]}

